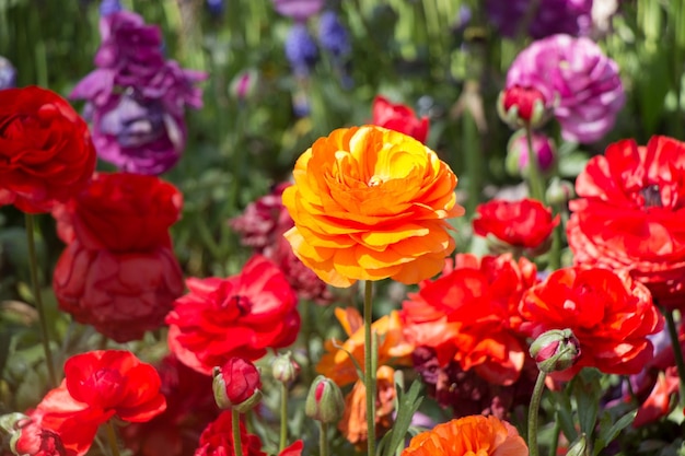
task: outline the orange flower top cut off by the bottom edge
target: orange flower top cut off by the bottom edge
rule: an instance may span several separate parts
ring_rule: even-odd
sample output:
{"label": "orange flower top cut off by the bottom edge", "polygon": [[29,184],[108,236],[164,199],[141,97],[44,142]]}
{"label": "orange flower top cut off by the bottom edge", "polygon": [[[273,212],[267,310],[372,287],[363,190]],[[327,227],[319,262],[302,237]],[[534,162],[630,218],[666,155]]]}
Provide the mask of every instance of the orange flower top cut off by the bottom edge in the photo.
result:
{"label": "orange flower top cut off by the bottom edge", "polygon": [[438,424],[409,442],[402,456],[529,456],[529,447],[507,421],[471,416]]}

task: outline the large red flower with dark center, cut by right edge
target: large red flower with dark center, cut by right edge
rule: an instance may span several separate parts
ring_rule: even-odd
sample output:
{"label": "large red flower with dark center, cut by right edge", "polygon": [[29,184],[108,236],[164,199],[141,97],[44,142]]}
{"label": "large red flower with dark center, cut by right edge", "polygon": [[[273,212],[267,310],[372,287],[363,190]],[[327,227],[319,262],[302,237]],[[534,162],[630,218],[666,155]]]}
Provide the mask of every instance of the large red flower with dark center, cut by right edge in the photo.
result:
{"label": "large red flower with dark center, cut by right edge", "polygon": [[611,144],[576,180],[567,225],[577,264],[625,269],[654,301],[685,308],[685,143]]}

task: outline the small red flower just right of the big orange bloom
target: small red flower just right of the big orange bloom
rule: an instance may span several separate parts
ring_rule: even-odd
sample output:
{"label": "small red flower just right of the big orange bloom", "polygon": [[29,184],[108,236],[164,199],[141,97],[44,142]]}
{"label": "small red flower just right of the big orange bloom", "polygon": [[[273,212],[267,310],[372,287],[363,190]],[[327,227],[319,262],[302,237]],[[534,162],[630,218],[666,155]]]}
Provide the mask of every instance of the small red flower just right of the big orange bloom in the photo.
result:
{"label": "small red flower just right of the big orange bloom", "polygon": [[516,248],[537,250],[544,248],[559,215],[534,199],[506,201],[494,199],[476,208],[474,232],[480,236],[491,235],[500,242]]}

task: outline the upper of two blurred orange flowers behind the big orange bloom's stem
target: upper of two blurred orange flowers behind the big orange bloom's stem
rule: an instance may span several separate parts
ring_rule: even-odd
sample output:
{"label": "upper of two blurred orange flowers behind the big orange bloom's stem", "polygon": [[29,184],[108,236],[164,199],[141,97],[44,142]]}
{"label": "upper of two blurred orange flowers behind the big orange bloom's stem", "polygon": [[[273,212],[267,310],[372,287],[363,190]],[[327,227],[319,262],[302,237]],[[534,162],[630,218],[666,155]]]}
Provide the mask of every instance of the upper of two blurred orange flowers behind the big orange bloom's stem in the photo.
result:
{"label": "upper of two blurred orange flowers behind the big orange bloom's stem", "polygon": [[[336,308],[335,315],[342,325],[349,339],[340,348],[336,348],[336,341],[326,341],[326,351],[316,366],[316,372],[325,375],[339,386],[348,385],[358,379],[355,363],[350,354],[363,370],[364,365],[364,331],[363,321],[359,312],[353,307]],[[371,330],[379,337],[379,366],[385,364],[411,364],[409,359],[414,346],[408,343],[403,336],[403,327],[399,314],[393,311],[371,325]]]}

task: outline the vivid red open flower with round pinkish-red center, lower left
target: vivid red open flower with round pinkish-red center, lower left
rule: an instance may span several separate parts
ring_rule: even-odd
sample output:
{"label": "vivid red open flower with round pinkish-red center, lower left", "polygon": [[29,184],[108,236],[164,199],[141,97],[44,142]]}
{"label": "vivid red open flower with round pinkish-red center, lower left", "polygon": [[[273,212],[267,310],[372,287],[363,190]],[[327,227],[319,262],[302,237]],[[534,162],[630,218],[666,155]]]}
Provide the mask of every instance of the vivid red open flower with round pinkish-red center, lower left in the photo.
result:
{"label": "vivid red open flower with round pinkish-red center, lower left", "polygon": [[160,375],[130,351],[77,354],[65,363],[65,376],[72,398],[124,421],[149,421],[166,409]]}

